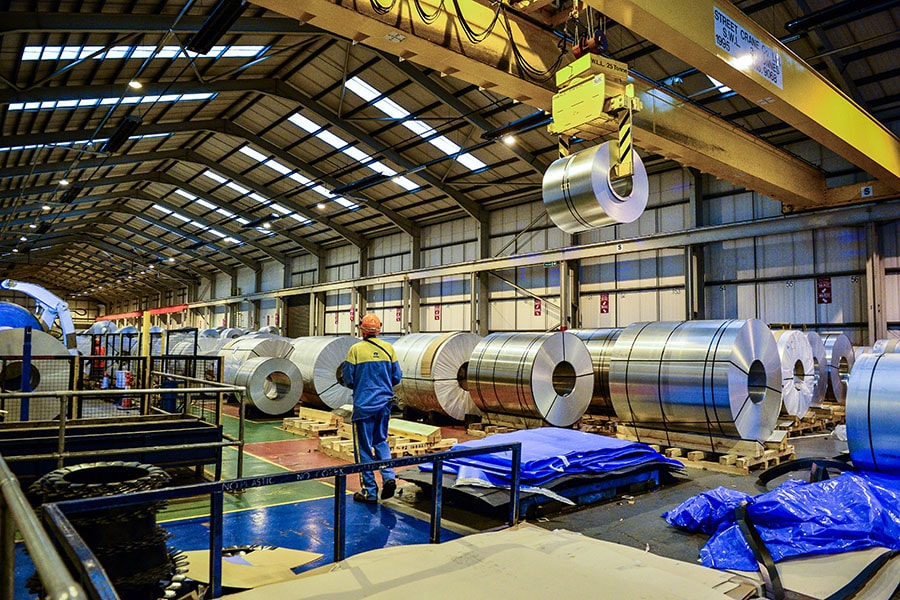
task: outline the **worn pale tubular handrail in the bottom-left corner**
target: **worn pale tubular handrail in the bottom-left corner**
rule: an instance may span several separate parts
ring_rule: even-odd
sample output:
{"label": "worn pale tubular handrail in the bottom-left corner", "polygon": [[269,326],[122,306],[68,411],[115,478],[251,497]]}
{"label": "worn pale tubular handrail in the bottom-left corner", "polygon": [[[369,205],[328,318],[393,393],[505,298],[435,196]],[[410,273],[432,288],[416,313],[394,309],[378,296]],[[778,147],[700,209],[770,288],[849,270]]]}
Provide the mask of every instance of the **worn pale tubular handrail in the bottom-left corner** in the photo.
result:
{"label": "worn pale tubular handrail in the bottom-left corner", "polygon": [[18,529],[44,587],[43,598],[78,600],[87,598],[69,574],[47,532],[25,499],[16,476],[0,456],[0,598],[13,598],[15,533]]}

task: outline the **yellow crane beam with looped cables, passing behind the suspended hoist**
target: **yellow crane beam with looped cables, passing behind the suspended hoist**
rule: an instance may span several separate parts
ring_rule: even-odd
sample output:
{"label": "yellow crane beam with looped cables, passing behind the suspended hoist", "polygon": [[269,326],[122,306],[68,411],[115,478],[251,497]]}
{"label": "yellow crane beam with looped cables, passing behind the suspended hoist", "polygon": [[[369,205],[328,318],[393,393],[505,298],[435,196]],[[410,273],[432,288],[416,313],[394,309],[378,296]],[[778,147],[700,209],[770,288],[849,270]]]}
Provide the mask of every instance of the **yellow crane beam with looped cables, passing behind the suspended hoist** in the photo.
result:
{"label": "yellow crane beam with looped cables, passing behind the suspended hoist", "polygon": [[[397,0],[385,14],[365,1],[252,2],[535,108],[551,109],[551,98],[556,91],[552,73],[541,82],[523,76],[509,35],[524,60],[537,69],[551,69],[555,64],[560,55],[558,40],[547,31],[513,17],[508,20],[508,28],[501,17],[501,22],[484,41],[472,44],[452,3],[445,3],[433,22],[424,23],[411,0]],[[494,11],[488,6],[474,0],[458,0],[458,3],[466,21],[476,29],[493,19]],[[438,11],[439,7],[434,0],[419,0],[419,5],[429,13]],[[635,94],[644,105],[644,110],[634,117],[636,146],[786,205],[825,203],[825,178],[819,169],[664,90],[639,80],[634,85]]]}

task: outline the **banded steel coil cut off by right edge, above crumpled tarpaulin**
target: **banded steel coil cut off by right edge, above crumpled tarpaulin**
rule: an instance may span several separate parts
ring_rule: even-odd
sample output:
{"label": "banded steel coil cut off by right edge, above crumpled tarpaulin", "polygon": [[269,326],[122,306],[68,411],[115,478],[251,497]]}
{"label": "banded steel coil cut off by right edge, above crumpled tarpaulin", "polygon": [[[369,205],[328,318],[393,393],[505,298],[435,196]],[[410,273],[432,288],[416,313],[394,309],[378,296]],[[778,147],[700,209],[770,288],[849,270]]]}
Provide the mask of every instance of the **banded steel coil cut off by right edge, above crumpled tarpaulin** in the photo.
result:
{"label": "banded steel coil cut off by right edge, above crumpled tarpaulin", "polygon": [[900,354],[863,354],[847,388],[847,443],[857,469],[900,475]]}

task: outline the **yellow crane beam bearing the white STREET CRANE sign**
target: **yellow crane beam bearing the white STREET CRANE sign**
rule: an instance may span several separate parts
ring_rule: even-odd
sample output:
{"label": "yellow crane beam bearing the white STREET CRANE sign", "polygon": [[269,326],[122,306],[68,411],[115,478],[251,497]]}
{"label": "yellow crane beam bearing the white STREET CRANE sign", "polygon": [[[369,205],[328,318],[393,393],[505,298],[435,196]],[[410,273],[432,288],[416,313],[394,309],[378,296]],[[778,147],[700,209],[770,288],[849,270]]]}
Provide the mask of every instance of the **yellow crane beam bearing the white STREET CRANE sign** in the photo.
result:
{"label": "yellow crane beam bearing the white STREET CRANE sign", "polygon": [[[900,139],[731,3],[587,4],[900,190]],[[750,42],[740,39],[746,34],[761,42],[753,55]],[[754,61],[753,66],[744,60]]]}

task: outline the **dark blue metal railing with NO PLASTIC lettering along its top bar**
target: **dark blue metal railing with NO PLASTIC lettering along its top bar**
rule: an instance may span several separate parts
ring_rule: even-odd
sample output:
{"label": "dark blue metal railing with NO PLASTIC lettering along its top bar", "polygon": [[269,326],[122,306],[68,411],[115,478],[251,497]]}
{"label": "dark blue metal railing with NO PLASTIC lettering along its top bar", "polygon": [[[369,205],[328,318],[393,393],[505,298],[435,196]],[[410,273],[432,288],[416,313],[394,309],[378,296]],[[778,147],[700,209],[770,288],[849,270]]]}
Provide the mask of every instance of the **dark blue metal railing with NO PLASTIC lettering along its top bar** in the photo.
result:
{"label": "dark blue metal railing with NO PLASTIC lettering along its top bar", "polygon": [[461,450],[449,450],[437,454],[425,454],[421,456],[404,456],[390,460],[375,461],[364,464],[351,464],[340,467],[326,467],[322,469],[306,469],[290,473],[275,473],[258,477],[243,477],[240,479],[228,479],[207,483],[197,483],[179,487],[122,494],[118,496],[103,496],[100,498],[88,498],[83,500],[67,500],[65,502],[45,504],[43,508],[44,524],[48,532],[53,536],[57,545],[64,552],[72,568],[78,571],[78,576],[84,586],[85,592],[93,600],[118,600],[112,583],[103,571],[96,557],[75,531],[72,524],[66,518],[67,514],[77,514],[100,508],[119,508],[135,504],[146,504],[175,498],[192,496],[209,496],[210,528],[209,528],[209,581],[213,598],[222,595],[222,526],[224,514],[224,494],[227,492],[239,492],[250,488],[294,483],[298,481],[312,481],[334,477],[334,561],[345,558],[344,531],[347,523],[347,476],[365,471],[375,471],[385,467],[396,468],[422,463],[432,463],[432,497],[431,497],[431,528],[429,541],[433,544],[441,541],[441,504],[443,500],[444,462],[456,458],[494,454],[497,452],[512,453],[512,469],[510,473],[509,489],[509,525],[513,526],[519,521],[519,469],[522,457],[522,445],[519,442],[511,444],[497,444],[495,446],[482,446],[479,448],[466,448]]}

